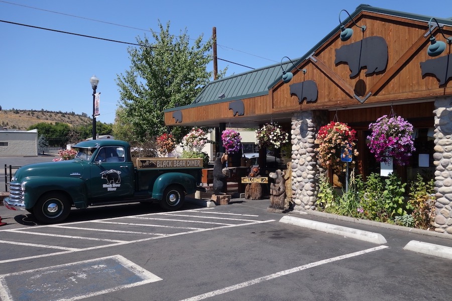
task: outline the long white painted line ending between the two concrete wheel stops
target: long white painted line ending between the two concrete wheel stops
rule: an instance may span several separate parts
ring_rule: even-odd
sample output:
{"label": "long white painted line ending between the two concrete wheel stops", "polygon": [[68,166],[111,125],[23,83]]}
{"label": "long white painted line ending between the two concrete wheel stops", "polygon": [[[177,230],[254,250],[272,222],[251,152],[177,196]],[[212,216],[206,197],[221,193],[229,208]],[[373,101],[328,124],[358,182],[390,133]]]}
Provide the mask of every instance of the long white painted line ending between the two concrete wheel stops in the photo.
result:
{"label": "long white painted line ending between the two concrete wheel stops", "polygon": [[268,280],[271,280],[271,279],[274,279],[274,278],[278,278],[278,277],[281,277],[281,276],[285,276],[285,275],[288,275],[288,274],[291,274],[291,273],[299,272],[299,271],[302,271],[304,269],[308,269],[308,268],[315,267],[315,266],[318,266],[318,265],[322,265],[322,264],[325,264],[325,263],[330,263],[330,262],[334,262],[334,261],[338,261],[338,260],[342,260],[342,259],[347,259],[347,258],[363,255],[363,254],[366,254],[366,253],[370,253],[370,252],[386,249],[386,248],[388,248],[388,246],[378,246],[378,247],[374,247],[374,248],[370,248],[370,249],[366,249],[366,250],[362,250],[362,251],[358,251],[358,252],[353,252],[353,253],[349,253],[349,254],[345,254],[345,255],[340,255],[340,256],[328,258],[328,259],[323,259],[323,260],[320,260],[320,261],[316,261],[316,262],[300,265],[300,266],[297,266],[297,267],[294,267],[294,268],[290,268],[290,269],[287,269],[287,270],[283,270],[283,271],[280,271],[280,272],[277,272],[277,273],[274,273],[274,274],[270,274],[270,275],[267,275],[267,276],[259,277],[259,278],[253,279],[253,280],[249,280],[249,281],[245,281],[245,282],[238,283],[238,284],[235,284],[235,285],[231,285],[231,286],[228,286],[228,287],[220,288],[220,289],[217,289],[217,290],[212,290],[210,292],[206,292],[206,293],[203,293],[203,294],[191,297],[191,298],[183,299],[181,301],[198,301],[198,300],[210,298],[210,297],[213,297],[213,296],[217,296],[217,295],[220,295],[220,294],[223,294],[223,293],[227,293],[227,292],[230,292],[230,291],[233,291],[233,290],[244,288],[244,287],[247,287],[247,286],[250,286],[250,285],[253,285],[253,284],[257,284],[257,283],[260,283],[260,282],[268,281]]}

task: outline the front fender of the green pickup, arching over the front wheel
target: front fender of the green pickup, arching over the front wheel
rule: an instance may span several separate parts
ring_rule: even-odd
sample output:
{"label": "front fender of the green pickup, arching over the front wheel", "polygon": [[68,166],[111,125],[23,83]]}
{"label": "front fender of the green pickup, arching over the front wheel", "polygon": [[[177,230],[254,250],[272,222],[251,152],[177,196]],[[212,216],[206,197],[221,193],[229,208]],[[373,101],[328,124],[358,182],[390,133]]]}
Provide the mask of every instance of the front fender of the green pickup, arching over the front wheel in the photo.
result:
{"label": "front fender of the green pickup, arching over the front wheel", "polygon": [[88,207],[85,183],[80,178],[28,177],[25,179],[25,208],[31,209],[38,199],[50,191],[66,193],[77,208]]}

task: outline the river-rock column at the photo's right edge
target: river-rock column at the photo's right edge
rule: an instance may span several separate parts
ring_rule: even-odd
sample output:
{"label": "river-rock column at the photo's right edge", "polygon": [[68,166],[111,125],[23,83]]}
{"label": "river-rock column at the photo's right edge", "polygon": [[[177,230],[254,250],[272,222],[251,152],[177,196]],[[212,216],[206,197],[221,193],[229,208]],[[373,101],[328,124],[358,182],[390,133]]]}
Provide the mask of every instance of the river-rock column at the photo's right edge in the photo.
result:
{"label": "river-rock column at the photo's right edge", "polygon": [[452,97],[435,99],[435,231],[452,234]]}

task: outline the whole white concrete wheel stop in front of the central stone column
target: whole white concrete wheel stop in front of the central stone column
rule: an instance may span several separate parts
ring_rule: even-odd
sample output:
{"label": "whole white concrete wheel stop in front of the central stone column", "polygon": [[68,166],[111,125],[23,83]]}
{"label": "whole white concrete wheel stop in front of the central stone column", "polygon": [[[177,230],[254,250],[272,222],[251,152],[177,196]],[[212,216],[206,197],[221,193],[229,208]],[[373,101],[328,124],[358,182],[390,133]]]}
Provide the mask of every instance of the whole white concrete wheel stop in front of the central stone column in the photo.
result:
{"label": "whole white concrete wheel stop in front of the central stone column", "polygon": [[326,233],[337,234],[354,239],[364,240],[377,244],[387,243],[383,235],[379,233],[358,230],[349,227],[337,226],[322,222],[316,222],[312,220],[302,219],[294,216],[283,216],[280,220],[281,223],[300,226],[308,229],[318,230]]}

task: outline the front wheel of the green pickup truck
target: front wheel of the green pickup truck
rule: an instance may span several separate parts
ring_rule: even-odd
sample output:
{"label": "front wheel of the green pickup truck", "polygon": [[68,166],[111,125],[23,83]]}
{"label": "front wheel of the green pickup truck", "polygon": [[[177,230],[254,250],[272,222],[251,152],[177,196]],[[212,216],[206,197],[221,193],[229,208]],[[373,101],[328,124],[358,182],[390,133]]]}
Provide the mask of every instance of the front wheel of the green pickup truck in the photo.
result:
{"label": "front wheel of the green pickup truck", "polygon": [[68,198],[57,192],[43,195],[33,207],[36,219],[44,224],[53,224],[64,221],[71,211]]}

